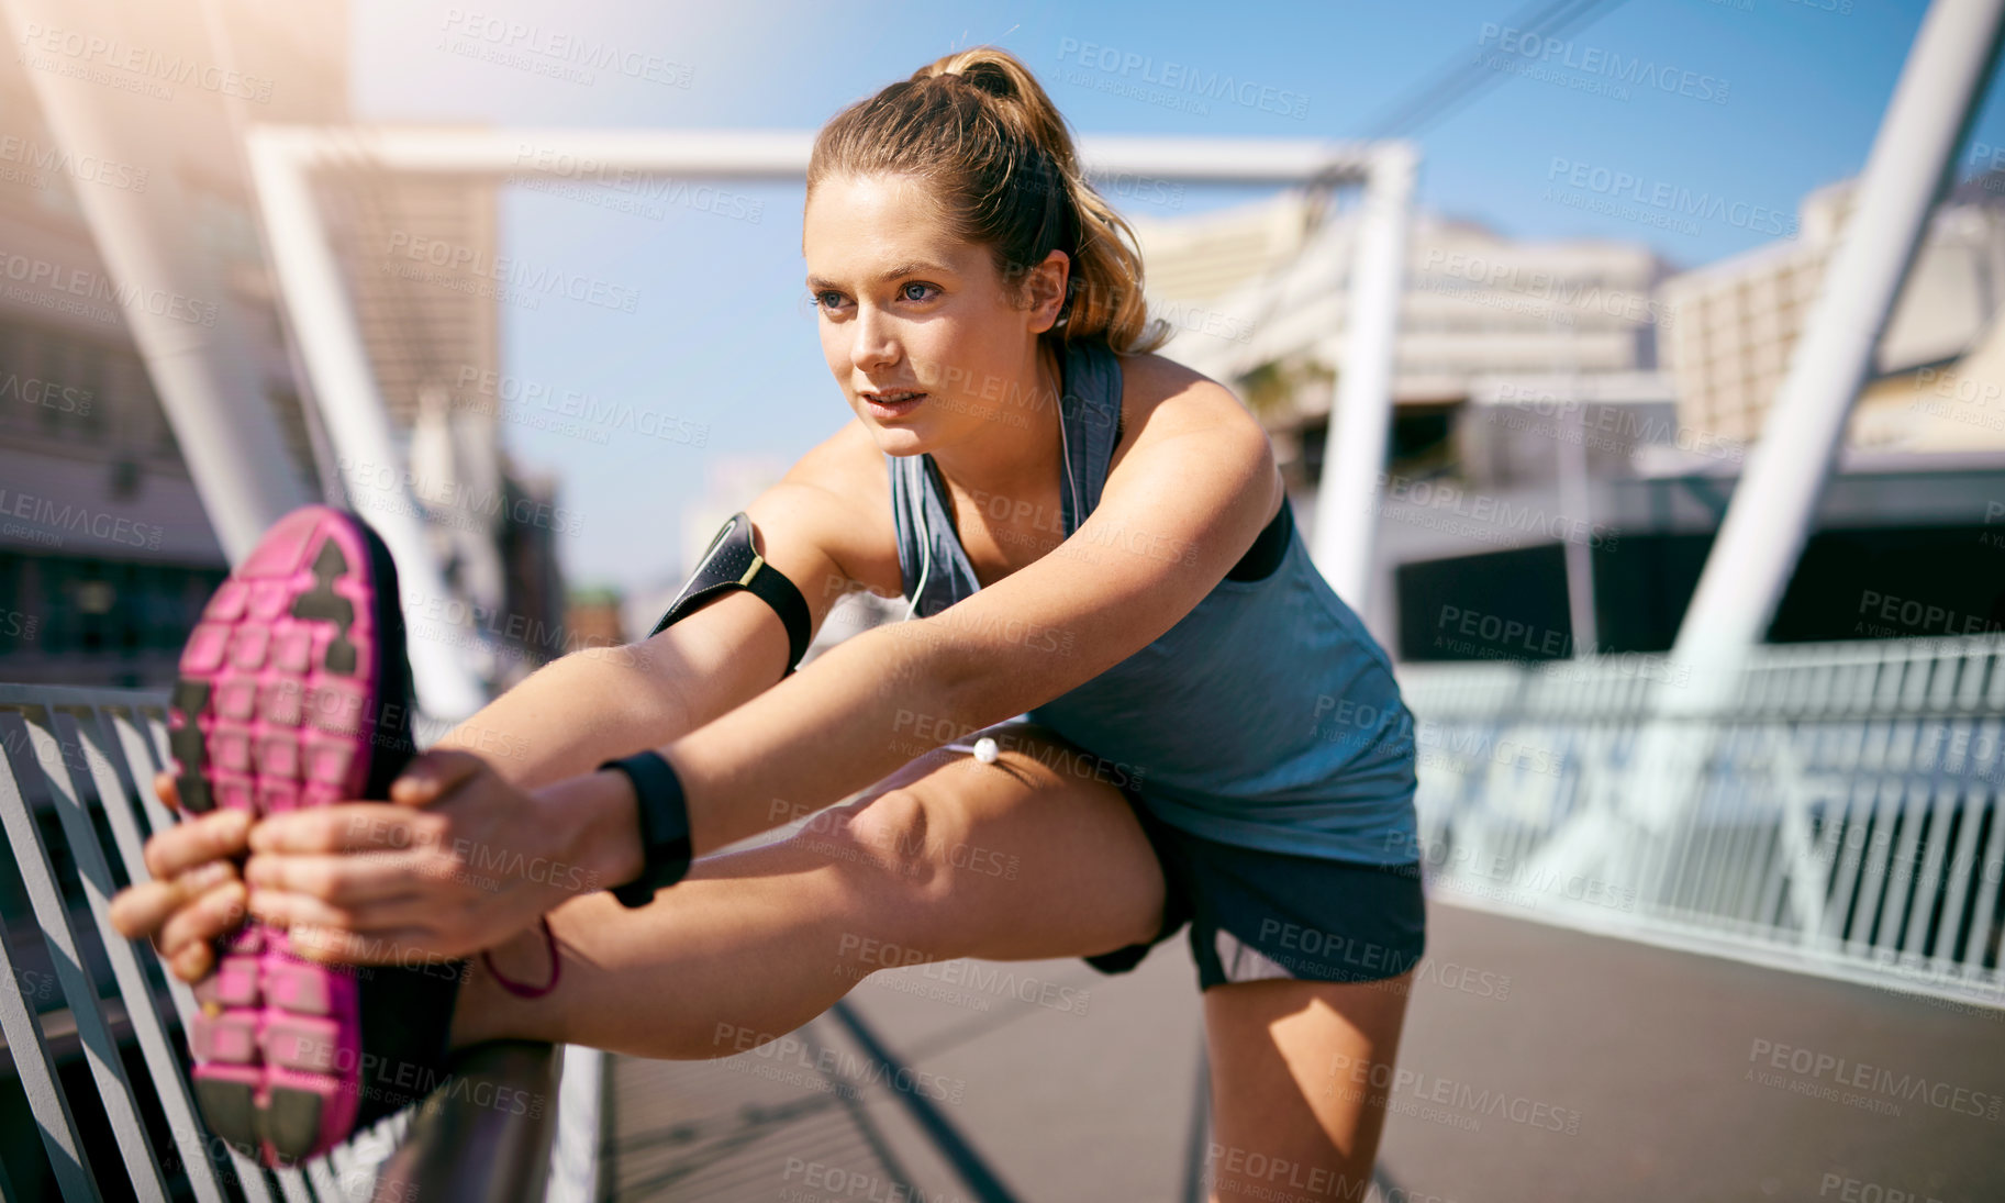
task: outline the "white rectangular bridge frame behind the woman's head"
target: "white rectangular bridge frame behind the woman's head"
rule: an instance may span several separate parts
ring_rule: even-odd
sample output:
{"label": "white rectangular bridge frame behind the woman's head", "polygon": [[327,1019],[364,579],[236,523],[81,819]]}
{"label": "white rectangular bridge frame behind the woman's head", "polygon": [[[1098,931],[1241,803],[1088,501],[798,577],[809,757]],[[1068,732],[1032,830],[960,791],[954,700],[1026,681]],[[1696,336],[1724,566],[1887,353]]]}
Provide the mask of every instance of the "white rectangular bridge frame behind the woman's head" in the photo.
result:
{"label": "white rectangular bridge frame behind the woman's head", "polygon": [[[802,182],[812,130],[437,130],[365,126],[259,126],[249,150],[273,271],[291,317],[329,441],[345,465],[399,463],[387,405],[369,367],[355,305],[347,295],[325,219],[313,196],[323,172],[369,170],[501,182],[521,176],[569,178],[593,170],[634,170],[678,178]],[[1081,138],[1089,174],[1147,174],[1215,184],[1363,184],[1361,253],[1349,281],[1349,343],[1329,425],[1323,489],[1317,497],[1315,561],[1331,585],[1363,608],[1371,579],[1377,477],[1391,425],[1393,345],[1399,325],[1406,233],[1418,152],[1406,142],[1321,142],[1307,138]],[[359,489],[361,481],[343,481]],[[369,485],[379,487],[379,485]],[[273,513],[283,513],[275,499]],[[415,505],[371,511],[405,573],[405,593],[443,595]],[[413,640],[427,714],[465,714],[469,668],[445,648]],[[449,692],[443,682],[463,678]]]}

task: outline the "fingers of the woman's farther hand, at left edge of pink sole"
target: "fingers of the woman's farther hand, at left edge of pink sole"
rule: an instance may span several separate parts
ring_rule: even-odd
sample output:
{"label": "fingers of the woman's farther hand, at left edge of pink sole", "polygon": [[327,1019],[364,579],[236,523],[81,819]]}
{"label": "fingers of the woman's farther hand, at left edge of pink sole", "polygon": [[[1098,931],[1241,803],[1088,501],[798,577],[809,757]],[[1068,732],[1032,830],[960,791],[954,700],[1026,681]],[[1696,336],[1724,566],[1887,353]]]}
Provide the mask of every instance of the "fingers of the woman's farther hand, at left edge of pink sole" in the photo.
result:
{"label": "fingers of the woman's farther hand, at left edge of pink sole", "polygon": [[[156,774],[152,790],[168,810],[180,810],[172,774]],[[150,938],[180,980],[209,976],[217,966],[211,942],[245,920],[245,884],[231,858],[247,850],[249,832],[243,810],[213,810],[154,832],[146,840],[152,880],[112,896],[112,926],[128,940]]]}

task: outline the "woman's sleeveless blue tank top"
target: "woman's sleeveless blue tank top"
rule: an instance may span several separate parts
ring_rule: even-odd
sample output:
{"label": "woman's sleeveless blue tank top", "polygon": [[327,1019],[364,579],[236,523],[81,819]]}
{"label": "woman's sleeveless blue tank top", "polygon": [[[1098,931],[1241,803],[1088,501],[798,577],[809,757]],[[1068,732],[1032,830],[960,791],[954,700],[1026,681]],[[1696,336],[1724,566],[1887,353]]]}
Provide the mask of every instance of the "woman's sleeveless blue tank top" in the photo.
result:
{"label": "woman's sleeveless blue tank top", "polygon": [[[1073,537],[1083,521],[1073,489],[1093,513],[1119,441],[1121,363],[1091,339],[1069,345],[1061,367],[1073,477],[1061,471],[1059,497]],[[886,459],[904,595],[924,569],[914,614],[932,616],[980,581],[932,455]],[[1391,662],[1315,569],[1289,501],[1261,543],[1283,547],[1273,571],[1233,579],[1235,569],[1159,640],[1027,716],[1097,756],[1103,780],[1127,784],[1179,830],[1267,852],[1412,864],[1414,716]]]}

